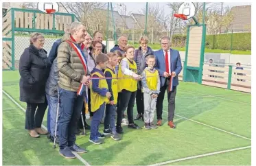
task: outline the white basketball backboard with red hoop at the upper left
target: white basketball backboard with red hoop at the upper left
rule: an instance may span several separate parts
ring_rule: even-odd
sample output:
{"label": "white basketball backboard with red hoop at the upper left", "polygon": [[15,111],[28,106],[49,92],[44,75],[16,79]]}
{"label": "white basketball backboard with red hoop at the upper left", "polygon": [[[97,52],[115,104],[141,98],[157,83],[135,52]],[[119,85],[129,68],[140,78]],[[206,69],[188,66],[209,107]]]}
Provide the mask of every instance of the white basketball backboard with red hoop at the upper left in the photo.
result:
{"label": "white basketball backboard with red hoop at the upper left", "polygon": [[38,2],[37,8],[38,10],[48,14],[58,12],[59,10],[59,6],[57,2]]}

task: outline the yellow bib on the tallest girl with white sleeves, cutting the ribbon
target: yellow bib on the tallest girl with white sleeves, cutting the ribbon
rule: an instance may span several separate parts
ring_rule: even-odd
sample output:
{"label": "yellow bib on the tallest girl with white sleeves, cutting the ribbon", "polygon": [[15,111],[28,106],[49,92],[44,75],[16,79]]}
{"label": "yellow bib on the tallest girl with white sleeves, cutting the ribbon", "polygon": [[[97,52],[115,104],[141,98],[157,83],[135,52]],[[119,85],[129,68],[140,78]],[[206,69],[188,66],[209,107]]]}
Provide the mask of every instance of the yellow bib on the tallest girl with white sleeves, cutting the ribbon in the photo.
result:
{"label": "yellow bib on the tallest girl with white sleeves, cutting the ribbon", "polygon": [[[127,58],[124,58],[122,60],[126,60],[128,62],[129,70],[137,73],[137,64],[134,60],[132,60],[133,64]],[[118,92],[121,92],[121,90],[123,89],[130,92],[137,91],[137,80],[132,78],[132,76],[124,75],[124,73],[121,72],[121,63],[119,64],[118,78],[121,78],[120,80],[118,80]]]}

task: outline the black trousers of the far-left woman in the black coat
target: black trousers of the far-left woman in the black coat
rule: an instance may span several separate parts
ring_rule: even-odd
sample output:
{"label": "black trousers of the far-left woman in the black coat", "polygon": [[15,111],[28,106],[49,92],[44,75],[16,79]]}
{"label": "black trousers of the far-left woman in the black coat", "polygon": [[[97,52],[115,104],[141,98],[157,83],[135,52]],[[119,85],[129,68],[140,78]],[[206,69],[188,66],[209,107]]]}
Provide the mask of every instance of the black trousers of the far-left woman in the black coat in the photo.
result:
{"label": "black trousers of the far-left woman in the black coat", "polygon": [[41,127],[47,106],[46,99],[45,103],[41,104],[27,103],[27,110],[25,113],[26,130],[34,130],[34,128]]}

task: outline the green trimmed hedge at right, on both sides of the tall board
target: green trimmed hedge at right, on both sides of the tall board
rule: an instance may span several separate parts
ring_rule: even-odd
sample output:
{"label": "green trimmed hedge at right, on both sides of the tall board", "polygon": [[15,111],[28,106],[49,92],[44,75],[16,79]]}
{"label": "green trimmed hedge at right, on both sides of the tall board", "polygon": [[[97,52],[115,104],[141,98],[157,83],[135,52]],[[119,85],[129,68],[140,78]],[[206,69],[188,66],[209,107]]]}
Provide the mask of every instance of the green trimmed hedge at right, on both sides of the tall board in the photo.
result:
{"label": "green trimmed hedge at right, on both sides of the tall board", "polygon": [[[233,36],[232,45],[231,36]],[[172,46],[185,47],[186,40],[187,36],[174,35],[172,36]],[[251,33],[207,35],[205,39],[205,48],[222,50],[251,50]]]}

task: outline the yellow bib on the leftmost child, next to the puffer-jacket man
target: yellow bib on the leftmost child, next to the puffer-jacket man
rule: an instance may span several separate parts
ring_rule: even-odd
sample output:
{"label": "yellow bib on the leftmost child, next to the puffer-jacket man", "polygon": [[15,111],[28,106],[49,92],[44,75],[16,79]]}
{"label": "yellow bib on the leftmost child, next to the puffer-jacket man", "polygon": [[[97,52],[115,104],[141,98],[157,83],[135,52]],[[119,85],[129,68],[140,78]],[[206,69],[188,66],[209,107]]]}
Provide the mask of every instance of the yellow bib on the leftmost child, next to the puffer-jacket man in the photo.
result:
{"label": "yellow bib on the leftmost child, next to the puffer-jacket man", "polygon": [[[91,75],[91,77],[93,77],[93,75],[97,75],[99,78],[105,78],[103,75],[101,75],[98,72],[95,72]],[[108,89],[108,84],[106,83],[106,79],[100,79],[99,82],[99,88],[106,88]],[[96,110],[98,110],[100,108],[100,106],[102,104],[104,104],[104,102],[108,102],[109,99],[106,96],[101,96],[97,93],[95,93],[93,91],[93,85],[91,84],[91,112],[95,112]]]}

